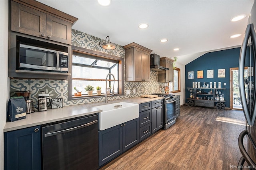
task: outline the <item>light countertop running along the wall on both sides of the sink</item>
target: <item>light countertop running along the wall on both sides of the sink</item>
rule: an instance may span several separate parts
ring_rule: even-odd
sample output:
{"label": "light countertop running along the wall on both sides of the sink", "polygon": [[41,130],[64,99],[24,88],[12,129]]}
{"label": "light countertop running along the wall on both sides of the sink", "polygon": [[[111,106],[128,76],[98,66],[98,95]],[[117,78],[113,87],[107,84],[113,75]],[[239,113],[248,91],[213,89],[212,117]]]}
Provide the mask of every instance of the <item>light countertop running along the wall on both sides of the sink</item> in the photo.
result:
{"label": "light countertop running along the wall on both sides of the sink", "polygon": [[133,97],[133,98],[109,101],[108,103],[105,103],[105,102],[87,103],[83,105],[66,106],[59,109],[48,109],[47,111],[34,112],[34,113],[27,114],[26,119],[14,121],[14,122],[7,122],[6,125],[4,126],[4,132],[17,130],[21,128],[33,127],[33,126],[56,122],[56,121],[62,121],[65,119],[91,115],[94,113],[99,113],[102,110],[97,109],[96,108],[97,105],[118,103],[118,102],[124,102],[124,101],[140,104],[140,103],[146,103],[146,102],[155,101],[159,99],[163,99],[163,97],[156,97],[156,98]]}

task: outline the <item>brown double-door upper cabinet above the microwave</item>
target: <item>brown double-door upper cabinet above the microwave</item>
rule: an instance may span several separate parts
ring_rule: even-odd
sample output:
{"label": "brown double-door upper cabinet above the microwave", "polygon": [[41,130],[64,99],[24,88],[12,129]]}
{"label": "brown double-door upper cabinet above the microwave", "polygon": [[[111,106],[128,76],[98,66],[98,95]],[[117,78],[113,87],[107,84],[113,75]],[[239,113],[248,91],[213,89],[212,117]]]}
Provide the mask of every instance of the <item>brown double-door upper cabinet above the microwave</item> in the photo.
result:
{"label": "brown double-door upper cabinet above the microwave", "polygon": [[11,1],[12,31],[71,44],[71,26],[78,18],[34,0],[15,1]]}

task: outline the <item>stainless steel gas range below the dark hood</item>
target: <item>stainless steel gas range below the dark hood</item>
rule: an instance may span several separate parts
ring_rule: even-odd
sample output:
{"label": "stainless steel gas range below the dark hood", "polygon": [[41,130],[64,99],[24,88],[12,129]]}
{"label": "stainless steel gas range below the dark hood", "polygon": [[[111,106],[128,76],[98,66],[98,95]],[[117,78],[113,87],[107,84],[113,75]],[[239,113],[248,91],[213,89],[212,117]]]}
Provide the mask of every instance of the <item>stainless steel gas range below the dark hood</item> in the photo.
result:
{"label": "stainless steel gas range below the dark hood", "polygon": [[154,93],[153,95],[164,97],[164,130],[166,130],[176,122],[175,96],[162,93]]}

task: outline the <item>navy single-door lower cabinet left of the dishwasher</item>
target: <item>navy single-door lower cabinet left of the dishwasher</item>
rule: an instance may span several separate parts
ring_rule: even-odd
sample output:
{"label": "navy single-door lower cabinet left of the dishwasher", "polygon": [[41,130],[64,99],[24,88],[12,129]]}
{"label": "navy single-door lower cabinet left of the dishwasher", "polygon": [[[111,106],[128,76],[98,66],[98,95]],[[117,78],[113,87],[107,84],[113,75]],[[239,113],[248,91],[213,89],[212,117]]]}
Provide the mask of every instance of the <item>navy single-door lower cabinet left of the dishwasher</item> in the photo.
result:
{"label": "navy single-door lower cabinet left of the dishwasher", "polygon": [[4,132],[4,169],[41,170],[40,126]]}

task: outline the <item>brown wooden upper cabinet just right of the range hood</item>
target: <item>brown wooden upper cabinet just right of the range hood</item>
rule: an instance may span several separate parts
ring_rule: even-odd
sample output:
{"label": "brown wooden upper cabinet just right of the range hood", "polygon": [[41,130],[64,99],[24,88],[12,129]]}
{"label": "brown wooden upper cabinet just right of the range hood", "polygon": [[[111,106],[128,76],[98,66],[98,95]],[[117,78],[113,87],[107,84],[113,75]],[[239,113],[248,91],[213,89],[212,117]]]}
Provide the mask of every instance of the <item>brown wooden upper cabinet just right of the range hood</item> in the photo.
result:
{"label": "brown wooden upper cabinet just right of the range hood", "polygon": [[172,76],[173,76],[172,62],[173,60],[168,57],[160,58],[160,65],[163,67],[169,68],[169,70],[157,72],[158,82],[172,82]]}

